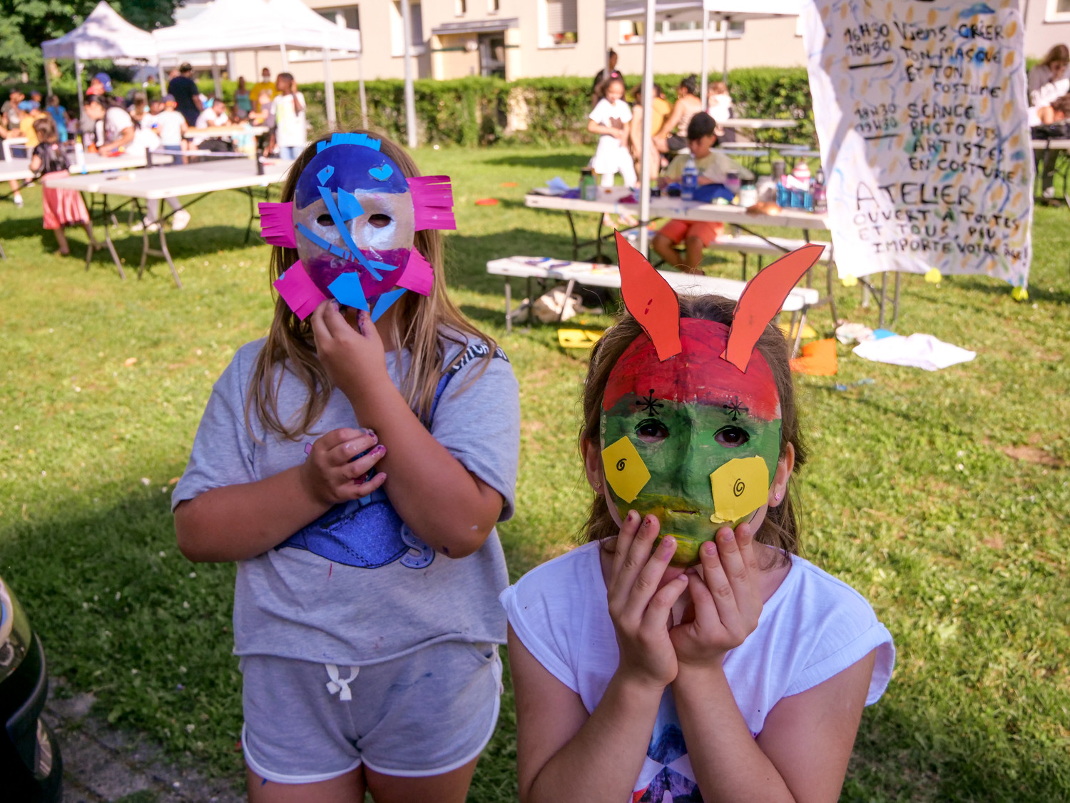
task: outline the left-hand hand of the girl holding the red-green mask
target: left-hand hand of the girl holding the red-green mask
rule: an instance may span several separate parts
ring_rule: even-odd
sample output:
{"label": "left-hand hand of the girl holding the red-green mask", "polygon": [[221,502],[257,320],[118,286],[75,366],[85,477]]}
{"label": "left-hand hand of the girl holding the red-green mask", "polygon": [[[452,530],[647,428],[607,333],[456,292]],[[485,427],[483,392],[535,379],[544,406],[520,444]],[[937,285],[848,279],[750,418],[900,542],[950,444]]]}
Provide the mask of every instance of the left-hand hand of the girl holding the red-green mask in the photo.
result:
{"label": "left-hand hand of the girl holding the red-green mask", "polygon": [[[629,511],[616,540],[608,584],[609,615],[621,651],[617,668],[627,677],[663,687],[676,677],[676,654],[669,638],[669,612],[687,588],[684,575],[658,588],[676,542],[666,537],[651,555],[659,521]],[[638,531],[638,532],[637,532]]]}

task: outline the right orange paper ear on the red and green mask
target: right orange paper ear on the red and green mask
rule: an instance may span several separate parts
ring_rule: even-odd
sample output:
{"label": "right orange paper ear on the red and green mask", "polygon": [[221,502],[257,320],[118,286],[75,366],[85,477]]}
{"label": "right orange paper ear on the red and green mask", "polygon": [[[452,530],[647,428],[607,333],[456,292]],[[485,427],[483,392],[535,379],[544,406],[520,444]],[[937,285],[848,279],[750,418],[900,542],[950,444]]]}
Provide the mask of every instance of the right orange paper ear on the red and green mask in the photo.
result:
{"label": "right orange paper ear on the red and green mask", "polygon": [[754,344],[762,336],[766,324],[780,312],[788,293],[802,278],[802,274],[813,267],[824,249],[825,246],[821,244],[804,245],[798,251],[782,256],[747,283],[736,304],[729,345],[721,354],[722,358],[739,370],[747,370]]}

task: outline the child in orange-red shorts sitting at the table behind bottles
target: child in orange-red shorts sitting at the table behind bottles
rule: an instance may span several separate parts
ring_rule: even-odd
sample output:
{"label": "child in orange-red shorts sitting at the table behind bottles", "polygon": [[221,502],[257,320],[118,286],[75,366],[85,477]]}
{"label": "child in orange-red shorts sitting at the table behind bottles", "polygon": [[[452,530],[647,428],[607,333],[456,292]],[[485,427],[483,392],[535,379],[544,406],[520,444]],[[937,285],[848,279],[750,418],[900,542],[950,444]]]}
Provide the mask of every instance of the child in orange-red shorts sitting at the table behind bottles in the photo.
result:
{"label": "child in orange-red shorts sitting at the table behind bottles", "polygon": [[[664,175],[658,179],[658,186],[664,188],[669,184],[678,182],[684,175],[684,167],[689,158],[694,158],[694,166],[699,170],[699,186],[707,187],[713,184],[724,184],[730,172],[736,173],[740,180],[752,181],[754,175],[734,162],[727,154],[713,150],[714,140],[717,135],[714,130],[717,123],[714,118],[705,111],[700,111],[691,118],[687,125],[687,153],[681,153],[666,168]],[[696,200],[709,201],[713,199],[709,186],[706,192],[697,192]],[[708,194],[707,194],[708,193]],[[723,223],[713,221],[670,221],[654,238],[654,251],[666,260],[667,264],[675,266],[685,273],[702,273],[699,270],[699,262],[702,261],[702,249],[714,242],[724,230]],[[686,252],[684,261],[681,262],[679,254],[676,252],[677,245],[684,243]]]}

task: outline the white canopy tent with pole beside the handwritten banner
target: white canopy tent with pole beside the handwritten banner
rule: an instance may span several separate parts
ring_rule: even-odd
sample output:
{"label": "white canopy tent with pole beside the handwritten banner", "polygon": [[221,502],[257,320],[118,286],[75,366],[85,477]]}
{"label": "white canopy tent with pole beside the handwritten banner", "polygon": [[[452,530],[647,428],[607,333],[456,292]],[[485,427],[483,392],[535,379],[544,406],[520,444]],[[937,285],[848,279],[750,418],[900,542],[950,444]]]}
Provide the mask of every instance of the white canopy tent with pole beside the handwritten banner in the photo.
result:
{"label": "white canopy tent with pole beside the handwritten banner", "polygon": [[[639,194],[639,249],[649,254],[652,106],[654,103],[654,25],[657,21],[699,21],[702,29],[702,106],[706,106],[708,66],[706,47],[709,42],[710,19],[725,22],[747,19],[766,19],[798,16],[804,0],[606,0],[606,21],[639,20],[643,22],[643,150],[640,176],[643,177]],[[728,80],[729,42],[724,37],[722,76]]]}

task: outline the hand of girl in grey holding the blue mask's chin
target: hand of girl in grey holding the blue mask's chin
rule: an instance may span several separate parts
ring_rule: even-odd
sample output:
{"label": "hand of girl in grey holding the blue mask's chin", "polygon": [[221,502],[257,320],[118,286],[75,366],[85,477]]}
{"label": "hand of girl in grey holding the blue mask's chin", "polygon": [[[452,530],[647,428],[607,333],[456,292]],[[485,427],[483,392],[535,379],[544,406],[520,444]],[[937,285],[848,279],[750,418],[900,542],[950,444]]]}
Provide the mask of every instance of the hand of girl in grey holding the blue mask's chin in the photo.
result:
{"label": "hand of girl in grey holding the blue mask's chin", "polygon": [[379,330],[364,310],[350,310],[353,323],[338,309],[338,302],[328,300],[312,313],[312,335],[316,353],[335,387],[354,402],[363,388],[374,382],[389,382],[386,355]]}

